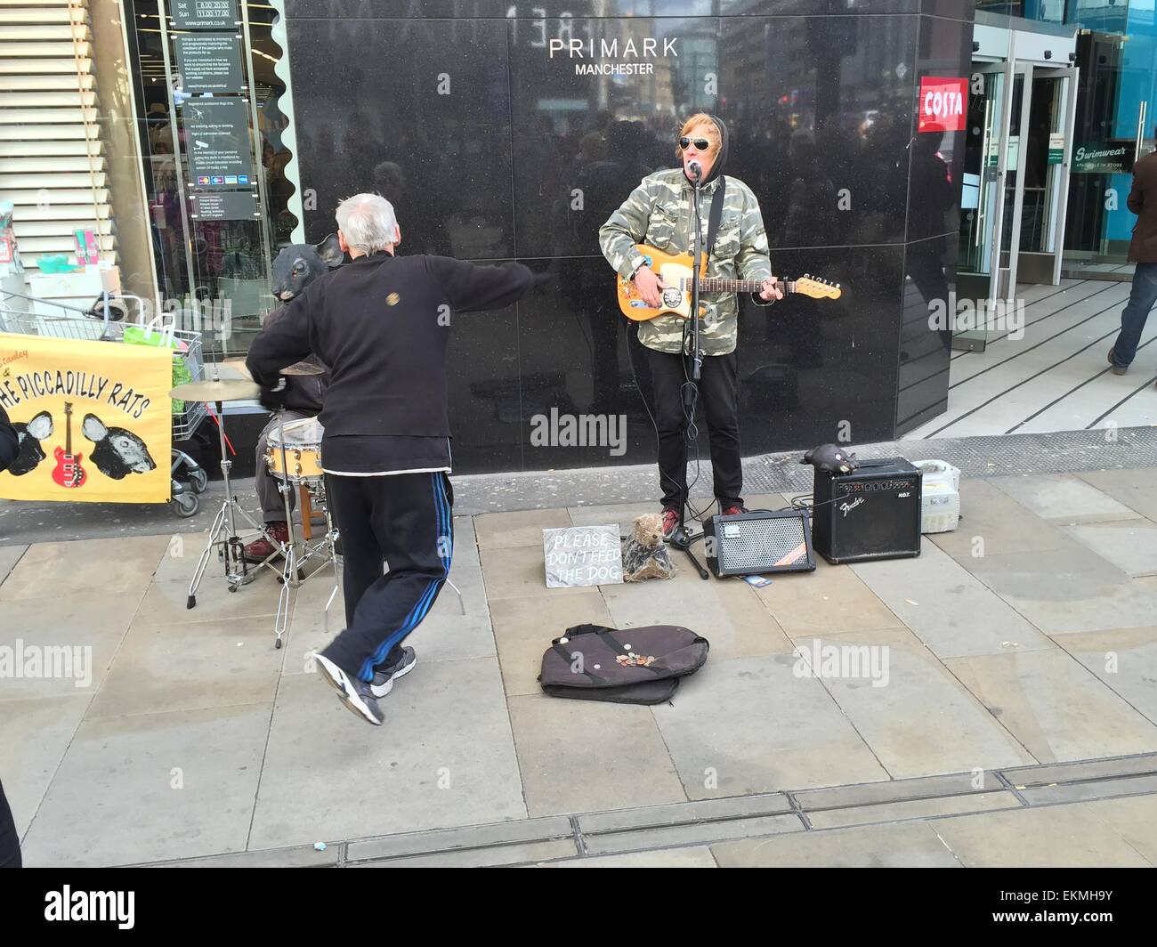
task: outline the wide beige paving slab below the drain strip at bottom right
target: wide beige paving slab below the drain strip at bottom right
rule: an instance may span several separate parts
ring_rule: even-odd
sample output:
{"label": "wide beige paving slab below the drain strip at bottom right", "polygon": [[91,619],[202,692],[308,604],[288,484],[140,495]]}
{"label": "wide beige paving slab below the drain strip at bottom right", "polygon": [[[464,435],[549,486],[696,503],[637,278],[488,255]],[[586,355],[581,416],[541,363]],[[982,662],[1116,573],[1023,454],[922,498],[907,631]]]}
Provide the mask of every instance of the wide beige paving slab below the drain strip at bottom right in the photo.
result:
{"label": "wide beige paving slab below the drain strip at bottom right", "polygon": [[929,824],[967,868],[1149,867],[1092,805],[1103,803],[980,813]]}

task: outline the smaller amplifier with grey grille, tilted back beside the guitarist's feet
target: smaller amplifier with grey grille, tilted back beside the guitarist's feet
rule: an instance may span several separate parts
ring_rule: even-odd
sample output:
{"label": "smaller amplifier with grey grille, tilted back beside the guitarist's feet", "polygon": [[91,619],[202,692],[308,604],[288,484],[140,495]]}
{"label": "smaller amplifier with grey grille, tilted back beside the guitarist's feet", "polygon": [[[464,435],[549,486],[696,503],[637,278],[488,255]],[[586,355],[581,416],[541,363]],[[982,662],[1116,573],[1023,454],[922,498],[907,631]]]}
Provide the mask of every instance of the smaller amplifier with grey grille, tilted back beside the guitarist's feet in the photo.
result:
{"label": "smaller amplifier with grey grille, tilted back beside the guitarist's feet", "polygon": [[707,565],[717,578],[815,572],[806,511],[756,511],[703,523]]}

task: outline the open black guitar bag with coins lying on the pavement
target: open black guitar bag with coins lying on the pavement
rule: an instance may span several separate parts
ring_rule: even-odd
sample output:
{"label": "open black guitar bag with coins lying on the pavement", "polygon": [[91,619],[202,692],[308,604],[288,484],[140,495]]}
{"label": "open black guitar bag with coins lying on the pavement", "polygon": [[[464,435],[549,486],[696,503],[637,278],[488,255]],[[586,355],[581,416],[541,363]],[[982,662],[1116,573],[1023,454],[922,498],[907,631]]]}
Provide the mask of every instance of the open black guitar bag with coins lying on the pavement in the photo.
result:
{"label": "open black guitar bag with coins lying on the pavement", "polygon": [[662,704],[680,677],[703,666],[709,648],[706,638],[679,625],[575,625],[551,643],[538,681],[551,697]]}

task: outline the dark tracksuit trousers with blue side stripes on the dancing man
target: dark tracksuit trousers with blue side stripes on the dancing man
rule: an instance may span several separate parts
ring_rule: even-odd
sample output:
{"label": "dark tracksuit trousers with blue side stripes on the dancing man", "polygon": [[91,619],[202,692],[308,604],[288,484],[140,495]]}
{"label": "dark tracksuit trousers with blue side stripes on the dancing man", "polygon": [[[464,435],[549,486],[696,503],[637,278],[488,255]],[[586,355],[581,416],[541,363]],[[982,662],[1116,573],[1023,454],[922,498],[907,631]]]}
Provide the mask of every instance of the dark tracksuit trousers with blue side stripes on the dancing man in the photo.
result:
{"label": "dark tracksuit trousers with blue side stripes on the dancing man", "polygon": [[450,574],[454,489],[437,472],[330,476],[326,490],[341,536],[346,630],[322,654],[371,681],[376,665],[400,656]]}

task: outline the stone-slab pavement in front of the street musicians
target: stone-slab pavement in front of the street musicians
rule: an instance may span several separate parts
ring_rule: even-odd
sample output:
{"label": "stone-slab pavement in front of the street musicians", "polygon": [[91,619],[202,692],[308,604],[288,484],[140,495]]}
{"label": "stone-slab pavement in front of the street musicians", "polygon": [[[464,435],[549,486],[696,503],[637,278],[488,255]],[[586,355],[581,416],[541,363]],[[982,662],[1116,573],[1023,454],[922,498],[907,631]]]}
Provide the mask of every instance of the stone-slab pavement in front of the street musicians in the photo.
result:
{"label": "stone-slab pavement in front of the street musicians", "polygon": [[[447,589],[412,638],[382,728],[311,673],[332,575],[277,651],[270,572],[185,608],[198,534],[0,545],[0,648],[91,648],[87,674],[0,681],[25,861],[1157,864],[1157,469],[961,500],[916,559],[762,589],[545,588],[544,528],[649,502],[458,516],[462,608]],[[583,622],[684,624],[710,658],[671,704],[548,698],[543,651]]]}

